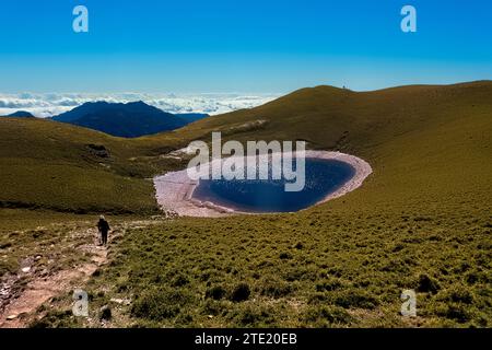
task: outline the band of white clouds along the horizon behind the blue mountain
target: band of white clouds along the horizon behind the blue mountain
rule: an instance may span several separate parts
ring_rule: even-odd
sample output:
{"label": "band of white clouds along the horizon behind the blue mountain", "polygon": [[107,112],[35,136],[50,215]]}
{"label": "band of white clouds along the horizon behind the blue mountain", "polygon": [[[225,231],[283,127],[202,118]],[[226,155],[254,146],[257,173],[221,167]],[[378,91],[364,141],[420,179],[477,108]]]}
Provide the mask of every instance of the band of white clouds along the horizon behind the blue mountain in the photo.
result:
{"label": "band of white clouds along the horizon behind the blue mountain", "polygon": [[279,97],[280,94],[164,94],[164,93],[0,93],[0,115],[22,109],[36,117],[50,117],[70,110],[85,102],[134,102],[143,101],[164,112],[222,114],[251,108]]}

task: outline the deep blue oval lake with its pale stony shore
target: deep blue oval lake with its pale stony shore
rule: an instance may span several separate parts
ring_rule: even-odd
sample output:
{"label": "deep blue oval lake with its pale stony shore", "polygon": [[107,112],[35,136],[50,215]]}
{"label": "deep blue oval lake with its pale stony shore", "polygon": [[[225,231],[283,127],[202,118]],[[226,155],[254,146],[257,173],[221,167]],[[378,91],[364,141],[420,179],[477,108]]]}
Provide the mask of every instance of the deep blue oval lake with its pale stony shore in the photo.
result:
{"label": "deep blue oval lake with its pale stony shore", "polygon": [[339,152],[307,151],[305,186],[285,191],[281,179],[189,179],[186,171],[154,178],[163,209],[191,217],[232,212],[293,212],[340,197],[362,185],[371,174],[363,160]]}

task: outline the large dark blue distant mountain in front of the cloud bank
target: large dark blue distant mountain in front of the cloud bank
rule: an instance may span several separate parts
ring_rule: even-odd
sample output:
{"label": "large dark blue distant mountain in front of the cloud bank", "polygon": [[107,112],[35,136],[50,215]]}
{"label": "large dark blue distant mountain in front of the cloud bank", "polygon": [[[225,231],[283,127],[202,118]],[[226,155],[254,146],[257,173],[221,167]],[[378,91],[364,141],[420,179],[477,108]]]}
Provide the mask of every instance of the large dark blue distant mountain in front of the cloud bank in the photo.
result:
{"label": "large dark blue distant mountain in front of the cloud bank", "polygon": [[184,127],[208,117],[207,114],[171,114],[144,102],[87,102],[69,112],[54,116],[55,121],[68,122],[113,136],[136,138]]}

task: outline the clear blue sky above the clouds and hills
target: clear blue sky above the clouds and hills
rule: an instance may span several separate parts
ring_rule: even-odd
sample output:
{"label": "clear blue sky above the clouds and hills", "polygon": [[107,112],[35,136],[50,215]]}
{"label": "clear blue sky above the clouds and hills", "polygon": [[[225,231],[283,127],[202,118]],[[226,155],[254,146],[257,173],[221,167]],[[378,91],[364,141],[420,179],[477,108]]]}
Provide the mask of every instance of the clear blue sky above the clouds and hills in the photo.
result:
{"label": "clear blue sky above the clouds and hills", "polygon": [[[72,31],[89,9],[90,32]],[[418,32],[402,33],[412,4]],[[492,79],[490,0],[4,0],[0,92],[372,90]]]}

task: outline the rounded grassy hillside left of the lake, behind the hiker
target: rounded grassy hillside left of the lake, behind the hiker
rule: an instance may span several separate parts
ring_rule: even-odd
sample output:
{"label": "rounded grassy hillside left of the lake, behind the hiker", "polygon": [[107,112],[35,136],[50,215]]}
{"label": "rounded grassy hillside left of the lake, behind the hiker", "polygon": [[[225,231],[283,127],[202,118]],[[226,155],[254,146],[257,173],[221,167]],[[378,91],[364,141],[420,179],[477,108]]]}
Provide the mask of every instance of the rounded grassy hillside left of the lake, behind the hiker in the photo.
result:
{"label": "rounded grassy hillside left of the lake, behind the hiker", "polygon": [[0,206],[71,212],[155,208],[149,166],[117,138],[40,119],[0,119]]}

